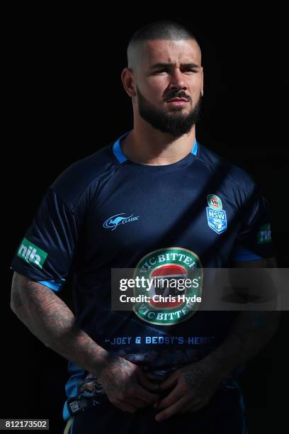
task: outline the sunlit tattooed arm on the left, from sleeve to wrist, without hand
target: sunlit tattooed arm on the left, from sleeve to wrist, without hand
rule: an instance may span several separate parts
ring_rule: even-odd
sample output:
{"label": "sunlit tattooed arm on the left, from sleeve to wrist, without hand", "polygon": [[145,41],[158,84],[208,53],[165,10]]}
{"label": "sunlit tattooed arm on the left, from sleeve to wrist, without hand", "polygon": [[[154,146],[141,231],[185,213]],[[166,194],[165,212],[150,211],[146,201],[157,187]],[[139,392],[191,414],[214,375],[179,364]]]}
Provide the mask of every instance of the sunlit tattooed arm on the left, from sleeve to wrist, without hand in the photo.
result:
{"label": "sunlit tattooed arm on the left, from sleeve to wrist, without hand", "polygon": [[11,306],[42,343],[96,376],[108,352],[75,324],[72,311],[51,289],[14,274]]}

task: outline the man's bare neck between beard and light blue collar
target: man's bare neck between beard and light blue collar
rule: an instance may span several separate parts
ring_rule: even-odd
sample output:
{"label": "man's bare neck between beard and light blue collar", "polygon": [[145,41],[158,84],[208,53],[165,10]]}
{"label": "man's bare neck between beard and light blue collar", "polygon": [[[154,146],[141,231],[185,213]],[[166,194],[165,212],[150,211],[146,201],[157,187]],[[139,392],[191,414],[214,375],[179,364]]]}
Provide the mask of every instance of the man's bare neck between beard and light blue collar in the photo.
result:
{"label": "man's bare neck between beard and light blue collar", "polygon": [[173,138],[155,128],[134,128],[122,140],[122,150],[128,160],[143,165],[171,165],[188,155],[195,143],[195,126],[187,135]]}

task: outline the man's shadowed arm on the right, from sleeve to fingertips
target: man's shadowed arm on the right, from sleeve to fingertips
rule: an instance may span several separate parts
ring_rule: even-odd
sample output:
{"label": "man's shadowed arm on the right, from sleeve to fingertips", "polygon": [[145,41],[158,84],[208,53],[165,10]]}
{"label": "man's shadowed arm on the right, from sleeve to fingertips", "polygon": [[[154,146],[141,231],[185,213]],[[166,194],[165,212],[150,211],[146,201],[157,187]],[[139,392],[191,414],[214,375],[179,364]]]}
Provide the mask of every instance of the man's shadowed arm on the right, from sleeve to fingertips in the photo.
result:
{"label": "man's shadowed arm on the right, from sleeve to fingertips", "polygon": [[[268,258],[235,263],[234,266],[276,267],[276,260]],[[276,332],[278,320],[277,311],[240,312],[219,347],[203,360],[178,369],[159,386],[159,391],[173,390],[159,402],[157,407],[164,410],[156,416],[157,421],[169,418],[174,413],[198,411],[208,404],[220,382],[268,343]]]}

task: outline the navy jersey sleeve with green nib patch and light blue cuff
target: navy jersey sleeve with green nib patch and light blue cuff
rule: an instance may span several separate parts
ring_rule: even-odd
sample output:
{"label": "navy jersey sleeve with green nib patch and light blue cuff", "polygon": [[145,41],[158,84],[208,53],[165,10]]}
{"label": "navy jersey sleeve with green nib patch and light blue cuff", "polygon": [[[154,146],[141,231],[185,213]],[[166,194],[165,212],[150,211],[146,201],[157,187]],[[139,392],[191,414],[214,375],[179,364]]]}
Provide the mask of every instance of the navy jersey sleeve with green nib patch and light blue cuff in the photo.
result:
{"label": "navy jersey sleeve with green nib patch and light blue cuff", "polygon": [[50,187],[16,250],[11,269],[60,291],[74,257],[78,232],[74,211]]}

